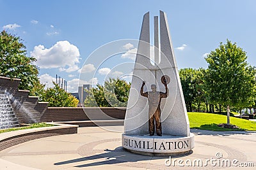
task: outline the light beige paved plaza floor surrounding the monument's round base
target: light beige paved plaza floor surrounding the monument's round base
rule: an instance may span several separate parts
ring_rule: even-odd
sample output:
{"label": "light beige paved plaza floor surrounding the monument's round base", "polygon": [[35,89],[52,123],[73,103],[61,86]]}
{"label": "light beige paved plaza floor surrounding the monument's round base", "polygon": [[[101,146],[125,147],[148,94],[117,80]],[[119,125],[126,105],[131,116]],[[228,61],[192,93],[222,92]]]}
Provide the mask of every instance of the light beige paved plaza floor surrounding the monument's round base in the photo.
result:
{"label": "light beige paved plaza floor surrounding the monument's round base", "polygon": [[[173,164],[165,165],[165,162],[170,163],[168,157],[136,155],[123,150],[123,127],[109,128],[119,132],[100,127],[81,127],[78,134],[36,139],[12,146],[0,152],[0,169],[255,169],[234,167],[233,160],[237,165],[252,162],[256,166],[256,132],[191,129],[195,134],[193,153],[172,157],[171,162],[175,162],[173,167]],[[222,157],[217,159],[216,153],[217,157]],[[207,166],[187,166],[191,162],[197,165],[199,159]],[[230,167],[221,166],[221,162],[226,165],[224,159],[230,160]],[[184,167],[179,166],[178,161]]]}

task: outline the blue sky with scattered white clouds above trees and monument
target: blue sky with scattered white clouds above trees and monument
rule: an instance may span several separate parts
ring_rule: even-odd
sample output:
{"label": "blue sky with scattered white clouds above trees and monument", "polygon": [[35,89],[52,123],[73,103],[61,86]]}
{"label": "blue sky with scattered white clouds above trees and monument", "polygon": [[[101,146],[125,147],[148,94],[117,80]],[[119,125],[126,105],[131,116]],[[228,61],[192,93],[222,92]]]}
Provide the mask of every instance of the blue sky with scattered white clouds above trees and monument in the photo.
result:
{"label": "blue sky with scattered white clouds above trees and monument", "polygon": [[[77,92],[78,83],[95,85],[108,76],[131,80],[138,44],[127,39],[139,38],[147,11],[151,32],[153,17],[159,10],[166,13],[179,69],[206,68],[204,57],[227,39],[243,48],[249,64],[256,62],[254,0],[0,0],[0,9],[0,29],[23,39],[28,57],[37,59],[40,81],[51,87],[58,74],[68,92]],[[100,58],[97,51],[108,53],[109,46],[123,53]]]}

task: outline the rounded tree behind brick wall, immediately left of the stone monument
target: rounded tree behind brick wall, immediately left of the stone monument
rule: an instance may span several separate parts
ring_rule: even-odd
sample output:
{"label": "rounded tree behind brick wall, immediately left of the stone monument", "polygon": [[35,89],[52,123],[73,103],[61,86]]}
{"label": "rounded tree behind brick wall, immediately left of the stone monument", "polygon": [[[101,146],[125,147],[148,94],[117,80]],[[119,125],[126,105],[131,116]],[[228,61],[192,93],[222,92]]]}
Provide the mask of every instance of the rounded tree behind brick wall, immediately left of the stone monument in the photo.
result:
{"label": "rounded tree behind brick wall, immediately left of the stone monument", "polygon": [[130,88],[131,83],[125,80],[109,78],[104,82],[104,86],[97,84],[96,87],[87,90],[88,96],[84,101],[84,106],[126,107]]}

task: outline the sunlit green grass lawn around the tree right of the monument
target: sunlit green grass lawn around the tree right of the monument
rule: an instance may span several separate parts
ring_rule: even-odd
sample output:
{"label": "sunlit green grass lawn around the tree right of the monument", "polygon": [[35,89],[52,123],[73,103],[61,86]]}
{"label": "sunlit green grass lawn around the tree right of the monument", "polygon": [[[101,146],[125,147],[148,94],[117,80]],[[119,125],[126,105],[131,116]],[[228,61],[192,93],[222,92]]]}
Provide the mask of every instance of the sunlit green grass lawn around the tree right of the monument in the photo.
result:
{"label": "sunlit green grass lawn around the tree right of the monument", "polygon": [[242,118],[230,117],[230,124],[240,129],[227,129],[218,127],[218,124],[227,123],[227,116],[212,113],[188,112],[190,128],[211,131],[256,131],[256,122]]}

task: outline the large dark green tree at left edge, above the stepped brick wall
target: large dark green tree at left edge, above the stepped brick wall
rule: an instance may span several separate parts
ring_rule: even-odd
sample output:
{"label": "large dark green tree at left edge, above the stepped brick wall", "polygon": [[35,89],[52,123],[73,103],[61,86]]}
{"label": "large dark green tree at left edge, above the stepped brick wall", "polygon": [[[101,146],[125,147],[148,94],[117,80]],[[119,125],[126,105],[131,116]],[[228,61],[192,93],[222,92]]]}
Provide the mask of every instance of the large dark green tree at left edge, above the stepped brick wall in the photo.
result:
{"label": "large dark green tree at left edge, above the stepped brick wall", "polygon": [[0,75],[10,78],[20,78],[19,89],[31,90],[38,83],[38,68],[33,65],[35,58],[26,57],[26,46],[22,40],[0,32]]}

